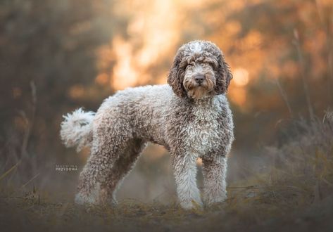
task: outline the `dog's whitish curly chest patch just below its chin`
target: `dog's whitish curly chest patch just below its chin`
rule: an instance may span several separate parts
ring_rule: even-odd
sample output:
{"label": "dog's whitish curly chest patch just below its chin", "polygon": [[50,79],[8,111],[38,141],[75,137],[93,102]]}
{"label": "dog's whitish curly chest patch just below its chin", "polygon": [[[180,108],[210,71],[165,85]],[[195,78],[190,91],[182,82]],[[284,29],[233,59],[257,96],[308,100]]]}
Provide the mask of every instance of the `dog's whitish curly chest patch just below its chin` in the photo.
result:
{"label": "dog's whitish curly chest patch just below its chin", "polygon": [[213,151],[219,141],[218,113],[220,108],[213,105],[210,108],[201,107],[194,110],[194,119],[187,124],[187,148],[190,153],[199,156]]}

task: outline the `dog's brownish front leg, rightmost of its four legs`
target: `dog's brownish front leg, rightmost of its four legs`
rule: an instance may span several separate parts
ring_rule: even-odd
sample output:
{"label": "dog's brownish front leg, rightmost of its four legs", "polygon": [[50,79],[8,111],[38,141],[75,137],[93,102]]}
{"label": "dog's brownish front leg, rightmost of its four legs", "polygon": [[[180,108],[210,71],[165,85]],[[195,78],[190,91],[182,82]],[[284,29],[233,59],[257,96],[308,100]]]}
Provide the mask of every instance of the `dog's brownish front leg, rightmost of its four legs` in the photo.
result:
{"label": "dog's brownish front leg, rightmost of its four legs", "polygon": [[227,198],[227,157],[217,155],[203,158],[203,199],[206,204],[222,202]]}

